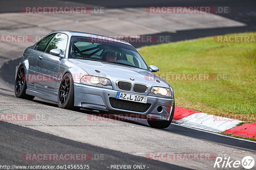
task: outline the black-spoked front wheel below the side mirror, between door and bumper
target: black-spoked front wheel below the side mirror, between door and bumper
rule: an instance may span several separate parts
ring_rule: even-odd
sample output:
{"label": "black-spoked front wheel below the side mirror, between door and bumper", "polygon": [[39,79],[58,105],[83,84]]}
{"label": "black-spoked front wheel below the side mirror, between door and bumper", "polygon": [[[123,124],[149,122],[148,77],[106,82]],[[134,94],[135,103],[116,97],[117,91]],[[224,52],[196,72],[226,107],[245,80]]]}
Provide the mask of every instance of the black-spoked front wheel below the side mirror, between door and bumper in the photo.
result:
{"label": "black-spoked front wheel below the side mirror, between door and bumper", "polygon": [[65,74],[60,82],[58,105],[62,109],[79,109],[74,107],[74,83],[70,73]]}

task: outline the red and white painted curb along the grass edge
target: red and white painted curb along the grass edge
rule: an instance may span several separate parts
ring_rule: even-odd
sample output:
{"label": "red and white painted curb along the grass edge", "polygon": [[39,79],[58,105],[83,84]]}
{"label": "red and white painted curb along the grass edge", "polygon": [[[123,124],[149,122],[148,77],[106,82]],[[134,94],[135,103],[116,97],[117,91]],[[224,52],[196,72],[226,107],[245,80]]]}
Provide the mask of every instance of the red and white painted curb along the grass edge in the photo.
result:
{"label": "red and white painted curb along the grass edge", "polygon": [[256,138],[256,124],[241,120],[209,115],[175,106],[173,123],[211,132],[224,132],[242,137]]}

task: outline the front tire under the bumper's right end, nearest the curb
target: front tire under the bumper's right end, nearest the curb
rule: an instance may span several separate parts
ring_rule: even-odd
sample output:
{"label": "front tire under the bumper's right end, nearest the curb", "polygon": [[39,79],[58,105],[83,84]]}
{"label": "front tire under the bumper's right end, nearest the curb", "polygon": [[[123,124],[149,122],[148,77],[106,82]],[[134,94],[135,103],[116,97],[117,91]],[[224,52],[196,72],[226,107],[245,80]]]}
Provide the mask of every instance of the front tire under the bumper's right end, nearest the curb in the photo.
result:
{"label": "front tire under the bumper's right end, nearest the curb", "polygon": [[175,108],[175,102],[173,102],[172,112],[169,120],[157,120],[157,119],[147,120],[149,126],[151,126],[152,128],[161,128],[161,129],[168,128],[172,123],[174,108]]}

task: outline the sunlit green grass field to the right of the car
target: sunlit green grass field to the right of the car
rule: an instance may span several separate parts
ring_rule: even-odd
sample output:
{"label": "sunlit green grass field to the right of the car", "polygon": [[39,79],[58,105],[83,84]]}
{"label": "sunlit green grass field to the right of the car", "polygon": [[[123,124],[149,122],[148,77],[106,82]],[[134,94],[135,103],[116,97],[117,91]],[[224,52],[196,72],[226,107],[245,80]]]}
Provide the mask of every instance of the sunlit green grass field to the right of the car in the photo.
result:
{"label": "sunlit green grass field to the right of the car", "polygon": [[[256,32],[237,35],[256,35]],[[139,50],[157,74],[228,74],[228,80],[166,80],[176,106],[256,123],[256,43],[220,43],[213,37],[145,46]]]}

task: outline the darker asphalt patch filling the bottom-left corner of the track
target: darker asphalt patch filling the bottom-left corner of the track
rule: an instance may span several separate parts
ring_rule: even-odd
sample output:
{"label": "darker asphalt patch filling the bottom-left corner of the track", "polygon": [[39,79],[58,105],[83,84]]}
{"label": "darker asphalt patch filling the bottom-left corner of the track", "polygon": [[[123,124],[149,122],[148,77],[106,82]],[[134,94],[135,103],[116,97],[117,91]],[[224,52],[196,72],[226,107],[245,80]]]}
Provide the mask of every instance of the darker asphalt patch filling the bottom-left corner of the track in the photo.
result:
{"label": "darker asphalt patch filling the bottom-left corner of the track", "polygon": [[[1,160],[4,160],[5,164],[12,164],[13,162],[15,162],[16,165],[59,165],[57,161],[42,163],[40,161],[26,162],[23,159],[20,159],[20,157],[22,157],[22,154],[24,154],[24,150],[28,153],[35,152],[35,150],[37,150],[40,153],[89,153],[92,155],[92,159],[83,162],[83,164],[89,164],[90,169],[101,169],[102,167],[106,167],[112,164],[111,162],[115,162],[115,164],[120,165],[147,165],[150,166],[150,169],[187,169],[160,161],[144,159],[140,156],[134,156],[123,152],[109,150],[90,144],[84,144],[65,138],[60,138],[54,135],[35,131],[25,127],[20,127],[2,121],[0,123],[0,127],[2,136],[1,138],[12,141],[12,143],[5,143],[1,145],[1,148],[6,148],[1,150],[1,156],[5,157],[4,155],[12,155],[10,157],[5,157],[5,159]],[[51,145],[47,145],[47,143],[51,143]],[[13,148],[13,145],[19,145],[20,148]],[[18,155],[19,157],[13,157],[13,155]],[[102,157],[102,155],[104,155],[104,157]],[[64,164],[80,165],[81,163],[77,160],[65,161]]]}

